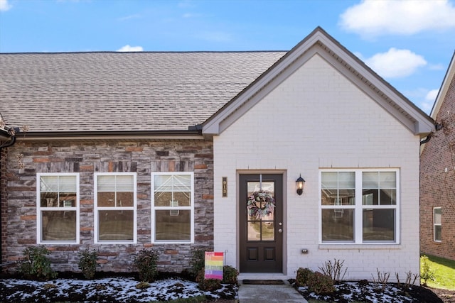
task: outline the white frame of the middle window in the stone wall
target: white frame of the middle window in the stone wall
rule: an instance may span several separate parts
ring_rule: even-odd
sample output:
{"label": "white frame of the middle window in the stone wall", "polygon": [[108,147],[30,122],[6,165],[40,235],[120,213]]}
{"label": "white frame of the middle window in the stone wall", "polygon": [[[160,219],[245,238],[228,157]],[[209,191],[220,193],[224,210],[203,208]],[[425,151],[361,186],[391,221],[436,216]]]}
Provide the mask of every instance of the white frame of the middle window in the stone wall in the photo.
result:
{"label": "white frame of the middle window in the stone wall", "polygon": [[[98,206],[98,176],[121,176],[127,175],[133,177],[133,206]],[[94,206],[93,206],[93,217],[94,217],[94,239],[97,244],[119,244],[119,243],[137,243],[137,173],[136,172],[95,172],[94,178]],[[133,240],[107,240],[100,241],[99,237],[99,218],[98,213],[100,210],[132,210],[133,211]]]}

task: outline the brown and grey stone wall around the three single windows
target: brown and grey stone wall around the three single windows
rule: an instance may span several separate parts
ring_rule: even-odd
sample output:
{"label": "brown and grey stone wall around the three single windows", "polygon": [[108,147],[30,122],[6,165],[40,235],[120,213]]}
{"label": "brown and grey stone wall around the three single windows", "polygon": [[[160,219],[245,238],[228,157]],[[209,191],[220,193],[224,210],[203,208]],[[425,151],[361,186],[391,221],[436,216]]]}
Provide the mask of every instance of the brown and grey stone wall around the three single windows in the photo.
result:
{"label": "brown and grey stone wall around the three single windows", "polygon": [[[23,154],[23,168],[14,155]],[[181,272],[189,267],[191,250],[213,250],[213,143],[176,141],[22,141],[9,148],[8,241],[10,261],[36,246],[36,173],[80,173],[80,243],[46,244],[54,270],[79,271],[77,253],[99,250],[100,271],[134,271],[134,253],[159,252],[159,270]],[[95,172],[137,172],[137,243],[94,244]],[[151,243],[151,172],[194,172],[193,244]]]}

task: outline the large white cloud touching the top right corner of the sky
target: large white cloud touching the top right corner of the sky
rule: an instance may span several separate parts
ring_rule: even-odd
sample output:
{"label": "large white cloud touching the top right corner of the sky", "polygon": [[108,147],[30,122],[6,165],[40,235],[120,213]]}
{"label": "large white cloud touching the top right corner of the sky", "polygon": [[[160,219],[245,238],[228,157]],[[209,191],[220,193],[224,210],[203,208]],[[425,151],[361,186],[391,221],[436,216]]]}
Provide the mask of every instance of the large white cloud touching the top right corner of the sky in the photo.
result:
{"label": "large white cloud touching the top right corner of the sky", "polygon": [[343,28],[364,36],[411,35],[455,28],[455,7],[448,0],[363,0],[340,18]]}

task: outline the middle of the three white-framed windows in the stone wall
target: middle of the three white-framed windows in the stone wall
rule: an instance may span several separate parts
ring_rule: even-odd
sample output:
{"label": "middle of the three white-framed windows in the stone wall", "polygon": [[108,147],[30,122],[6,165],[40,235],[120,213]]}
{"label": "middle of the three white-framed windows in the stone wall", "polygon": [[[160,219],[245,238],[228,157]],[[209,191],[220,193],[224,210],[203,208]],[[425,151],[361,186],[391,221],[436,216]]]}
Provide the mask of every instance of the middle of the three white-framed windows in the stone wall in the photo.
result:
{"label": "middle of the three white-framed windows in the stone wall", "polygon": [[136,243],[136,174],[95,174],[95,243]]}

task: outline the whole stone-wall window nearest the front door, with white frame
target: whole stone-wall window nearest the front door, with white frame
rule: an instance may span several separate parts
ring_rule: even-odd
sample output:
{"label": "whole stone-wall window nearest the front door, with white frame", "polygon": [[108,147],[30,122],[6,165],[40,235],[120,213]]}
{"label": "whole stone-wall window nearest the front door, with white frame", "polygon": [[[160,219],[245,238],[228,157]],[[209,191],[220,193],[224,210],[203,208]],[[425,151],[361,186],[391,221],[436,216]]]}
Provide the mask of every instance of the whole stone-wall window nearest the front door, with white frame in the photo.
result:
{"label": "whole stone-wall window nearest the front door, with white frame", "polygon": [[193,243],[193,172],[156,172],[151,180],[154,242]]}

